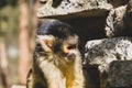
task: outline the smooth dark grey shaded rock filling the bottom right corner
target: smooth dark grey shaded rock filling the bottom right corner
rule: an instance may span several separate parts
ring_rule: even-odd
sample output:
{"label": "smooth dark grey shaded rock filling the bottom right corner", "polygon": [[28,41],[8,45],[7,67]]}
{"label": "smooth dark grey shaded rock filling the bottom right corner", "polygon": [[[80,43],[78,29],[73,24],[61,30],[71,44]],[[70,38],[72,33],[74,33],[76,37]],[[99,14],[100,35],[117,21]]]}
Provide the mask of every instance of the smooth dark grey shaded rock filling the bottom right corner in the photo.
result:
{"label": "smooth dark grey shaded rock filling the bottom right corner", "polygon": [[107,88],[132,88],[132,61],[114,61],[110,64]]}

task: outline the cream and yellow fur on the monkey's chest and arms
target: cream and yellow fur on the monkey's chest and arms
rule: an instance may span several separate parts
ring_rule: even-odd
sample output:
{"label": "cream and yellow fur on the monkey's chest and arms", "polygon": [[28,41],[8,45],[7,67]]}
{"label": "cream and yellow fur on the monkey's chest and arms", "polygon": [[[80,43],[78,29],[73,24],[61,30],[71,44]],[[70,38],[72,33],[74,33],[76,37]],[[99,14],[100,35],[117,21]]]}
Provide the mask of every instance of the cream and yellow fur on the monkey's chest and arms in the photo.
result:
{"label": "cream and yellow fur on the monkey's chest and arms", "polygon": [[[58,58],[57,56],[54,61],[52,59],[54,55],[51,55],[51,61],[45,59],[43,56],[37,58],[36,63],[45,75],[47,88],[85,88],[79,52],[77,54],[75,61],[69,63],[66,63],[63,57]],[[35,82],[45,85],[38,74],[38,72],[31,73],[29,88],[34,88]]]}

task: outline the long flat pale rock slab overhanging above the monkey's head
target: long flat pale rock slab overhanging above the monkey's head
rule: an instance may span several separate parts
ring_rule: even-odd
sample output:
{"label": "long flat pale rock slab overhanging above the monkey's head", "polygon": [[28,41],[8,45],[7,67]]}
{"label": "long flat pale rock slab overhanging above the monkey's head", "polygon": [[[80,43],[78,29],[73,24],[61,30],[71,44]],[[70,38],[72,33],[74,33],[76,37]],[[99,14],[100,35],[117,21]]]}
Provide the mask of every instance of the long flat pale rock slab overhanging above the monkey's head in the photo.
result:
{"label": "long flat pale rock slab overhanging above the monkey's head", "polygon": [[[47,1],[47,2],[46,2]],[[41,0],[38,18],[77,18],[105,15],[112,8],[107,0]],[[65,18],[64,18],[65,16]]]}

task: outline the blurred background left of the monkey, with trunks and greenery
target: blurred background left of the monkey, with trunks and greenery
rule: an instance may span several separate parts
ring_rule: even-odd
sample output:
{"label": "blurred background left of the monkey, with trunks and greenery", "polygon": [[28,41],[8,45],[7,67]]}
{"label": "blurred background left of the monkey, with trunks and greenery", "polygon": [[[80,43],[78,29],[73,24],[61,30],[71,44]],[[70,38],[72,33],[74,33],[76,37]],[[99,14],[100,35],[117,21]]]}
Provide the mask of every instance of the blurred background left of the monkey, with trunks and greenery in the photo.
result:
{"label": "blurred background left of the monkey, with trunks and greenery", "polygon": [[0,0],[0,88],[25,85],[37,26],[35,0]]}

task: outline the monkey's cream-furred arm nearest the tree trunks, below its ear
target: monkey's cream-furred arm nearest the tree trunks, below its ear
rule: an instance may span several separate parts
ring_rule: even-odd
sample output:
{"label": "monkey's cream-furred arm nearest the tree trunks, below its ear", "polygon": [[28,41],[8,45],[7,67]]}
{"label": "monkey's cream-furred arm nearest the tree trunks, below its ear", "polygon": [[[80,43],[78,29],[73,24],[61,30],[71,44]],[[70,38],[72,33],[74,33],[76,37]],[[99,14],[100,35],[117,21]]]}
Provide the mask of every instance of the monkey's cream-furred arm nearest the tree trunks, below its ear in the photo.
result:
{"label": "monkey's cream-furred arm nearest the tree trunks, below its ear", "polygon": [[42,61],[38,67],[46,78],[48,88],[66,88],[66,80],[61,70],[54,65],[54,62]]}

